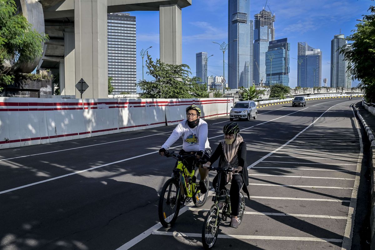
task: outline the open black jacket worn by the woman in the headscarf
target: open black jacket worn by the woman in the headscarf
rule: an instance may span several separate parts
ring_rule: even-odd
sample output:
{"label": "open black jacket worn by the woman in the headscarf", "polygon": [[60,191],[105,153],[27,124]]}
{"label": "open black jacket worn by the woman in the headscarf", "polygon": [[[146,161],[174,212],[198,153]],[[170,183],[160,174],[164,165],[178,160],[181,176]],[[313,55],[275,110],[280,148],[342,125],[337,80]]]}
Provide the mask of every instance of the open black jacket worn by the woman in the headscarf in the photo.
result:
{"label": "open black jacket worn by the woman in the headscarf", "polygon": [[[219,166],[222,166],[225,156],[224,156],[223,146],[221,142],[219,143],[216,150],[210,157],[210,160],[208,161],[211,162],[211,165],[212,165],[212,163],[214,163],[219,157],[220,157]],[[246,195],[248,195],[248,198],[250,199],[250,194],[249,194],[249,190],[247,187],[249,185],[249,174],[248,174],[248,165],[246,163],[246,142],[240,143],[239,148],[237,150],[237,157],[238,157],[238,165],[242,166],[242,180],[243,180],[242,190],[243,192],[246,193]]]}

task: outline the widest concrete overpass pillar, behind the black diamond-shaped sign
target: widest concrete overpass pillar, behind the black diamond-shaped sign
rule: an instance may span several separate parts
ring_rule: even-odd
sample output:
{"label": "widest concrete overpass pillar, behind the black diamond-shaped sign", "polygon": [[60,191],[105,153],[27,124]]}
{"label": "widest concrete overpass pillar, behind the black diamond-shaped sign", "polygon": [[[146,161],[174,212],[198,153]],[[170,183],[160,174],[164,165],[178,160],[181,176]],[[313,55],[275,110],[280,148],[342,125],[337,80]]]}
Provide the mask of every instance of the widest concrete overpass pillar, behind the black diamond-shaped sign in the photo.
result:
{"label": "widest concrete overpass pillar, behind the black diamond-shaped sign", "polygon": [[107,0],[74,0],[74,33],[75,83],[89,85],[82,97],[107,98]]}

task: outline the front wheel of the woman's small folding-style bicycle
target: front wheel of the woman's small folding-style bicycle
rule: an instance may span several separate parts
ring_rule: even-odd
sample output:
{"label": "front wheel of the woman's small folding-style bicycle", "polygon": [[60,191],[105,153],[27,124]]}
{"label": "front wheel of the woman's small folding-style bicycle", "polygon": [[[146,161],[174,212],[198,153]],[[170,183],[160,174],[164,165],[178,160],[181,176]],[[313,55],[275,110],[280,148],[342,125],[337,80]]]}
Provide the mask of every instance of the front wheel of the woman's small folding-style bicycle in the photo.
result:
{"label": "front wheel of the woman's small folding-style bicycle", "polygon": [[211,249],[217,239],[219,233],[219,211],[217,207],[213,207],[208,211],[202,228],[202,243],[204,249]]}

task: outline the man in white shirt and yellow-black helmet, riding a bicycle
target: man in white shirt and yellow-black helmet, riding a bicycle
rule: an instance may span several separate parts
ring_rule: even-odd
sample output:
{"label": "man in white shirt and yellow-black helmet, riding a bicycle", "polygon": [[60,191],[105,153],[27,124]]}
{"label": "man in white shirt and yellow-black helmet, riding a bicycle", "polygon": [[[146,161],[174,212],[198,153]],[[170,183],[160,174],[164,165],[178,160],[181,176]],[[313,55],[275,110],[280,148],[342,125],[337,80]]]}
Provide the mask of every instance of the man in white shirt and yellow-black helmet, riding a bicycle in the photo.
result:
{"label": "man in white shirt and yellow-black helmet, riding a bicycle", "polygon": [[[182,137],[183,144],[180,154],[195,154],[199,164],[199,174],[201,180],[199,181],[199,189],[201,193],[207,192],[204,180],[208,175],[208,170],[202,168],[202,163],[205,163],[210,158],[211,148],[208,143],[208,126],[203,120],[200,120],[201,109],[196,105],[190,105],[186,108],[186,120],[181,121],[169,138],[165,141],[159,149],[159,154],[164,155],[165,151],[174,144],[178,138]],[[202,162],[203,161],[203,162]],[[192,171],[192,161],[188,162],[187,169]]]}

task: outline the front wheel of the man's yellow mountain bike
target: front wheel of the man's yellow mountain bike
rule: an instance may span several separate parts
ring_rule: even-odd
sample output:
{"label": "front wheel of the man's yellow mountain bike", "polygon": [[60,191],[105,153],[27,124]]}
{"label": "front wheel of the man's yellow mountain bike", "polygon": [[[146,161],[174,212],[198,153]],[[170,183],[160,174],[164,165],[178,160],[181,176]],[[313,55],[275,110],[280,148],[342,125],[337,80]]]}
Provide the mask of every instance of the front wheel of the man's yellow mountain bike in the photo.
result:
{"label": "front wheel of the man's yellow mountain bike", "polygon": [[163,227],[171,227],[177,220],[180,211],[180,199],[178,197],[178,181],[169,179],[165,182],[159,198],[159,220]]}

